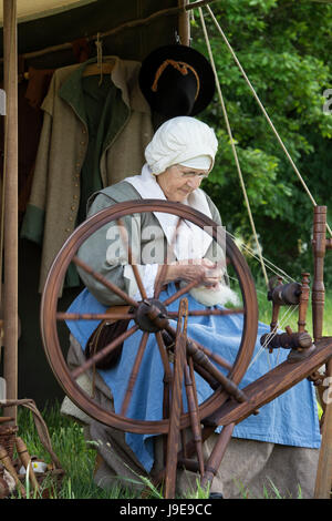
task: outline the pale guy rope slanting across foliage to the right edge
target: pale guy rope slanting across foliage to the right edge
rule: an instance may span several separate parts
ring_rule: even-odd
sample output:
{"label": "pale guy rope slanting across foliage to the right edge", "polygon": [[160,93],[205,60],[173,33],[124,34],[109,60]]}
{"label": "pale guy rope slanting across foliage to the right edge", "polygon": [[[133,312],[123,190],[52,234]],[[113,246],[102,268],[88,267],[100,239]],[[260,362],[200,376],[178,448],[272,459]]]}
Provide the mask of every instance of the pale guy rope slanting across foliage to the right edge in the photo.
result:
{"label": "pale guy rope slanting across foliage to the right edge", "polygon": [[[200,8],[199,8],[199,9],[200,9]],[[308,194],[310,201],[312,202],[313,206],[317,206],[317,202],[315,202],[314,197],[312,196],[312,194],[311,194],[309,187],[307,186],[307,184],[305,184],[305,182],[304,182],[302,175],[300,174],[300,172],[299,172],[297,165],[294,164],[294,162],[293,162],[292,157],[290,156],[290,154],[289,154],[287,147],[284,146],[284,144],[283,144],[283,142],[282,142],[282,140],[281,140],[281,137],[280,137],[280,135],[279,135],[277,129],[274,127],[272,121],[270,120],[270,118],[269,118],[269,115],[268,115],[266,109],[263,108],[263,105],[262,105],[262,103],[261,103],[261,101],[260,101],[258,94],[256,93],[256,91],[255,91],[252,84],[250,83],[250,81],[249,81],[249,79],[248,79],[248,76],[247,76],[247,74],[246,74],[246,72],[245,72],[245,70],[243,70],[241,63],[239,62],[239,60],[238,60],[236,53],[234,52],[234,50],[232,50],[232,48],[231,48],[229,41],[227,40],[227,38],[226,38],[226,35],[225,35],[225,33],[224,33],[224,31],[222,31],[222,29],[221,29],[219,22],[217,21],[215,14],[212,13],[211,8],[210,8],[209,6],[206,6],[206,9],[208,10],[210,17],[212,18],[212,21],[214,21],[216,28],[217,28],[218,31],[220,32],[220,34],[221,34],[221,37],[222,37],[222,39],[224,39],[224,41],[225,41],[227,48],[229,49],[229,51],[230,51],[230,53],[231,53],[231,55],[232,55],[235,62],[237,63],[238,68],[240,69],[241,73],[242,73],[242,75],[243,75],[246,82],[248,83],[248,85],[249,85],[249,88],[250,88],[250,90],[251,90],[251,92],[252,92],[252,94],[253,94],[256,101],[258,102],[258,104],[259,104],[259,106],[260,106],[260,109],[261,109],[263,115],[266,116],[266,119],[267,119],[269,125],[271,126],[273,133],[276,134],[276,137],[277,137],[277,140],[278,140],[280,146],[282,147],[282,150],[283,150],[286,156],[288,157],[288,160],[289,160],[289,162],[290,162],[292,168],[294,170],[294,172],[295,172],[298,178],[299,178],[300,182],[302,183],[302,186],[303,186],[304,191],[307,192],[307,194]],[[332,236],[332,229],[330,228],[330,226],[329,226],[328,223],[326,223],[326,228],[328,228],[330,235]]]}

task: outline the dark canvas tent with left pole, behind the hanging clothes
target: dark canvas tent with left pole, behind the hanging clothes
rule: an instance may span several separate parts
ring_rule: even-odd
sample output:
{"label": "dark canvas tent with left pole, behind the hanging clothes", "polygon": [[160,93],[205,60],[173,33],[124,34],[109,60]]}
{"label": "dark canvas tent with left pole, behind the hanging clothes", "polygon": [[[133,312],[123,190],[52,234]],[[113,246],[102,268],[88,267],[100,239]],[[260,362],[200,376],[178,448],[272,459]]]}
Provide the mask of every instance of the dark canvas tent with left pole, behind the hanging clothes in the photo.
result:
{"label": "dark canvas tent with left pole, behind the hanging clothes", "polygon": [[[1,2],[0,21],[3,28],[0,29],[0,49],[7,94],[7,115],[2,118],[2,124],[7,123],[7,146],[3,140],[6,204],[2,309],[6,345],[0,370],[7,380],[8,398],[32,397],[38,406],[43,407],[45,401],[62,396],[46,362],[40,337],[40,247],[19,238],[18,233],[18,164],[21,161],[21,147],[25,147],[25,152],[29,147],[29,131],[24,135],[21,106],[17,121],[18,89],[27,88],[24,72],[29,68],[58,69],[76,63],[73,44],[82,40],[90,57],[96,54],[95,41],[100,38],[104,55],[137,61],[142,61],[156,47],[175,43],[178,34],[183,43],[188,43],[188,14],[178,9],[186,3],[185,0]],[[63,305],[70,303],[76,293],[64,292]],[[64,345],[66,336],[68,331],[64,330]]]}

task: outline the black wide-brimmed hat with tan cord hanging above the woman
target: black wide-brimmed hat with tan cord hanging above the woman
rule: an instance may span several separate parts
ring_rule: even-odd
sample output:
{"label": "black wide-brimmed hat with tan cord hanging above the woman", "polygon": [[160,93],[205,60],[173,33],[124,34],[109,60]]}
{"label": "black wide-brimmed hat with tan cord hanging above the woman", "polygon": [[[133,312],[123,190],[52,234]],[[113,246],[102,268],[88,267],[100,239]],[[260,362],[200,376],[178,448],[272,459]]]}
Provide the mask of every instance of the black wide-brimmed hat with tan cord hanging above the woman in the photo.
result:
{"label": "black wide-brimmed hat with tan cord hanging above the woman", "polygon": [[139,86],[153,111],[196,115],[211,101],[215,74],[200,52],[178,43],[155,49],[142,63]]}

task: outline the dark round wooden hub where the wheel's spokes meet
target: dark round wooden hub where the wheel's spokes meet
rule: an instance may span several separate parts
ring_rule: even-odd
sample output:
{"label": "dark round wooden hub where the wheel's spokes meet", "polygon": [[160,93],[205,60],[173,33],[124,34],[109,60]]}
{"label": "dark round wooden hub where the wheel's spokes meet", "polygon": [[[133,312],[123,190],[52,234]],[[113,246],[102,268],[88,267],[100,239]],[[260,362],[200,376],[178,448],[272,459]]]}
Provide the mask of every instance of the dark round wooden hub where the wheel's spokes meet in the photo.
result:
{"label": "dark round wooden hub where the wheel's spokes meet", "polygon": [[135,323],[143,331],[159,331],[168,324],[166,306],[156,298],[143,300],[136,309]]}

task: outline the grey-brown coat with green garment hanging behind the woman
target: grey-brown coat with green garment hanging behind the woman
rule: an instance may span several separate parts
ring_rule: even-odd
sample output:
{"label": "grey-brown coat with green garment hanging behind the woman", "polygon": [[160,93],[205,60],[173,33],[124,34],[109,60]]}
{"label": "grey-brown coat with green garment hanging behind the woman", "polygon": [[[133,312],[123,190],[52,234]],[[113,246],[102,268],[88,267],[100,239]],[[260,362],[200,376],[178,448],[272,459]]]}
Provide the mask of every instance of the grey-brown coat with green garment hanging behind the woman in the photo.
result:
{"label": "grey-brown coat with green garment hanging behind the woman", "polygon": [[[58,69],[42,109],[43,126],[22,237],[42,245],[39,290],[58,252],[85,217],[95,190],[139,173],[153,136],[151,109],[141,93],[141,63],[104,57],[111,76],[84,76],[87,64]],[[69,273],[71,275],[71,273]],[[66,284],[75,286],[72,272]]]}

